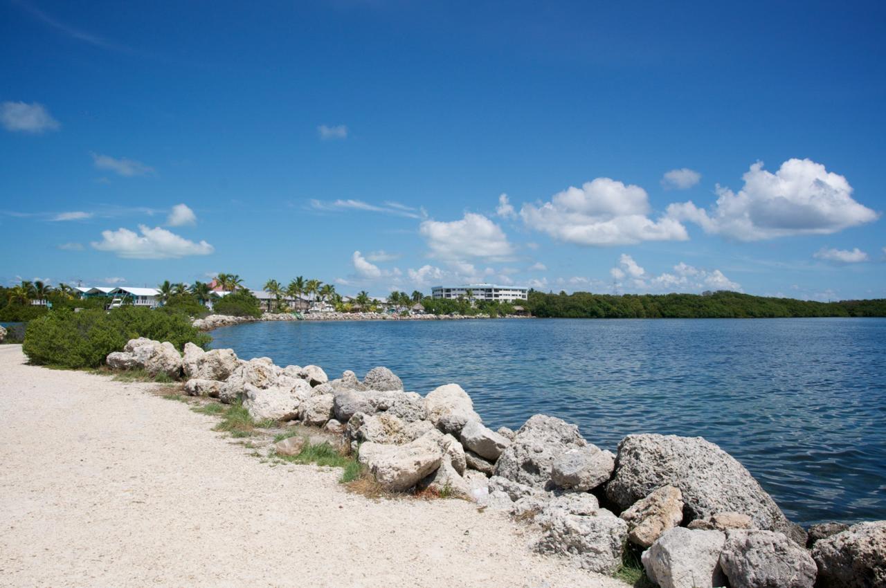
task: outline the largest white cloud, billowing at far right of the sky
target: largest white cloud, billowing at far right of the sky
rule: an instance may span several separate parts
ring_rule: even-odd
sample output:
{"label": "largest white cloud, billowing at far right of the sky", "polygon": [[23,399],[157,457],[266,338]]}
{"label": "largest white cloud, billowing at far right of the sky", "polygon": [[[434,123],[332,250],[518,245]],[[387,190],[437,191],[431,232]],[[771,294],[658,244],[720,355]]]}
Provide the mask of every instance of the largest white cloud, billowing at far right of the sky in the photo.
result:
{"label": "largest white cloud, billowing at far right of the sky", "polygon": [[740,241],[828,235],[879,216],[852,199],[846,178],[810,159],[789,159],[775,174],[757,162],[742,179],[737,193],[718,185],[719,197],[710,211],[690,201],[668,206],[668,214],[695,222],[705,233]]}

